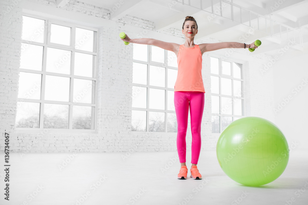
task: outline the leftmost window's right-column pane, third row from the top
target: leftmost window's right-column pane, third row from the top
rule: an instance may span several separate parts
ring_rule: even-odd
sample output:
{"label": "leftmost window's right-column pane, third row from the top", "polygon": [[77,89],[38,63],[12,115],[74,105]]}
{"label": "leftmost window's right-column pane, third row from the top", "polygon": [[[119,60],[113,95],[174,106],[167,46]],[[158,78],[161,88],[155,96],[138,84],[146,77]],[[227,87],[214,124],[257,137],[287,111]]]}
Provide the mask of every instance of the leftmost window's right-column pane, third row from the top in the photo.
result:
{"label": "leftmost window's right-column pane, third row from the top", "polygon": [[94,93],[94,81],[74,79],[74,103],[93,103],[92,93]]}

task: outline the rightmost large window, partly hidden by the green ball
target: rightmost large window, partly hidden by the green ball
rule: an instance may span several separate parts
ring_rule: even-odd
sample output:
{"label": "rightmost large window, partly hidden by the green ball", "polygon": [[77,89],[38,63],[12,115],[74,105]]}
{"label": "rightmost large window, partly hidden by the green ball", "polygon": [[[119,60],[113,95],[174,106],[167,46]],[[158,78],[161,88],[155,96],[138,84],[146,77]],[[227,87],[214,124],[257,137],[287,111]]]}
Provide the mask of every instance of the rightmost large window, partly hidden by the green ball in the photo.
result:
{"label": "rightmost large window, partly hidden by the green ball", "polygon": [[244,116],[242,64],[211,57],[212,132]]}

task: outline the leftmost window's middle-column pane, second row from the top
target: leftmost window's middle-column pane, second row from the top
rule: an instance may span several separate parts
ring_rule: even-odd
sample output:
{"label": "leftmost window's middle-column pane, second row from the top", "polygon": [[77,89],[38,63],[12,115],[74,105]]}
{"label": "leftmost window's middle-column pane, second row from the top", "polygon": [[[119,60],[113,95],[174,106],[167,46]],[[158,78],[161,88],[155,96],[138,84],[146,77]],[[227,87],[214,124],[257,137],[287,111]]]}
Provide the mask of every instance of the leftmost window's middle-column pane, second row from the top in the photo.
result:
{"label": "leftmost window's middle-column pane, second row from the top", "polygon": [[46,71],[53,73],[71,73],[71,51],[47,48]]}

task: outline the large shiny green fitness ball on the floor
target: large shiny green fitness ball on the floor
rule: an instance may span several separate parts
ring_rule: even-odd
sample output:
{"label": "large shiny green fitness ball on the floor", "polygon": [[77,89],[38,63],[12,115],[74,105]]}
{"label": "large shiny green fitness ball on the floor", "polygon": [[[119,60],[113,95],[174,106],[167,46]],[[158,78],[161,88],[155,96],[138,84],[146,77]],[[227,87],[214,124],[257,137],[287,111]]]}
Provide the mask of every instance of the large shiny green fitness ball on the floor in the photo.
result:
{"label": "large shiny green fitness ball on the floor", "polygon": [[221,169],[234,181],[260,186],[277,179],[289,161],[285,136],[273,123],[259,117],[233,121],[217,142]]}

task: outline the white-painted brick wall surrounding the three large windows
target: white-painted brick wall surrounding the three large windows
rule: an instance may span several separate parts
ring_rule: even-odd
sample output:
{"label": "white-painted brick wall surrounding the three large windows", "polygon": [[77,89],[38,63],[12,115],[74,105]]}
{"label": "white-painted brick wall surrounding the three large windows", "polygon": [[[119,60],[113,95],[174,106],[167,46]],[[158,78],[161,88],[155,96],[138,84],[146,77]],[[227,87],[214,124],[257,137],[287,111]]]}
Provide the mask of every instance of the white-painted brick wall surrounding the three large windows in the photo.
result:
{"label": "white-painted brick wall surrounding the three large windows", "polygon": [[[6,0],[1,9],[6,8],[11,1]],[[55,1],[31,0],[45,6],[55,7]],[[94,7],[77,1],[70,1],[61,10],[74,11],[79,15],[93,15],[98,18],[110,19],[106,9]],[[0,150],[3,151],[4,129],[10,133],[10,148],[14,152],[138,152],[138,151],[175,151],[176,133],[157,134],[155,132],[133,134],[131,132],[132,96],[132,44],[125,46],[119,39],[120,32],[127,32],[126,25],[155,31],[153,22],[125,16],[114,22],[112,28],[100,25],[99,51],[97,72],[97,112],[96,134],[56,134],[49,129],[42,133],[15,133],[16,97],[18,89],[18,68],[21,45],[22,9],[17,6],[9,15],[1,15],[1,92],[0,92]],[[180,29],[169,28],[157,34],[184,38]],[[144,37],[148,37],[145,34]],[[162,40],[162,39],[160,39]],[[215,39],[196,41],[213,43]],[[215,51],[213,54],[224,56],[225,51]],[[236,50],[231,58],[249,59],[245,65],[245,81],[247,89],[247,113],[252,116],[263,116],[273,120],[269,111],[273,108],[272,75],[260,75],[263,68],[260,57],[251,57],[247,50]],[[219,134],[212,134],[211,124],[211,94],[210,94],[210,56],[203,55],[202,75],[205,86],[205,108],[202,118],[202,149],[216,147]],[[261,56],[264,59],[266,56]],[[189,117],[188,117],[189,118]],[[187,147],[190,150],[191,132],[188,121]]]}

